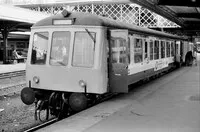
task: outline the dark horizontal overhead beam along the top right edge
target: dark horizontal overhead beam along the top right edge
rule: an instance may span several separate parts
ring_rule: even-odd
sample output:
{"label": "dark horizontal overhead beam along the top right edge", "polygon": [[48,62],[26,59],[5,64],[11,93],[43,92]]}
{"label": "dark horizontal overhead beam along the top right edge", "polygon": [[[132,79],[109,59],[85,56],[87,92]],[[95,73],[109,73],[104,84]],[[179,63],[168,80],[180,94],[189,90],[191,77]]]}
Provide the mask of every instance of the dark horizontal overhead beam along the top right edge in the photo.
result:
{"label": "dark horizontal overhead beam along the top right edge", "polygon": [[200,7],[200,0],[154,0],[158,5]]}

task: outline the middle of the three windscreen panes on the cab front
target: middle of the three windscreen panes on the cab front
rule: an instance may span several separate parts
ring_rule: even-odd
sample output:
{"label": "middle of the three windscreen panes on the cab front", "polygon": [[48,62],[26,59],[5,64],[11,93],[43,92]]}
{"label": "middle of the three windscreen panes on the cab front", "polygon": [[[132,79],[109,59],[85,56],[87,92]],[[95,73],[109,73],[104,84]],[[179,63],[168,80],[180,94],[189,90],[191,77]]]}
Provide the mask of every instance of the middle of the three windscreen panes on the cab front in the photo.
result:
{"label": "middle of the three windscreen panes on the cab front", "polygon": [[66,66],[69,58],[70,32],[53,32],[50,64],[55,66]]}

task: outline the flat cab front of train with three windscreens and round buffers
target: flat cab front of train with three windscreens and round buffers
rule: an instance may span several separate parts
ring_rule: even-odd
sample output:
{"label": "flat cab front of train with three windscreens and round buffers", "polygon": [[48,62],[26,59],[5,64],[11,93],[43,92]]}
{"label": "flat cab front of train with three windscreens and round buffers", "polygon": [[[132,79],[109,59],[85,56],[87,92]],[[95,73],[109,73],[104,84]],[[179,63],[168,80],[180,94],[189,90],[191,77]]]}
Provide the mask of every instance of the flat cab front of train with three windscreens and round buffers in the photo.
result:
{"label": "flat cab front of train with three windscreens and round buffers", "polygon": [[37,109],[51,109],[54,115],[66,107],[83,110],[93,95],[108,92],[103,28],[76,25],[80,20],[73,16],[63,18],[50,17],[32,27],[27,87],[21,91],[25,104],[35,102]]}

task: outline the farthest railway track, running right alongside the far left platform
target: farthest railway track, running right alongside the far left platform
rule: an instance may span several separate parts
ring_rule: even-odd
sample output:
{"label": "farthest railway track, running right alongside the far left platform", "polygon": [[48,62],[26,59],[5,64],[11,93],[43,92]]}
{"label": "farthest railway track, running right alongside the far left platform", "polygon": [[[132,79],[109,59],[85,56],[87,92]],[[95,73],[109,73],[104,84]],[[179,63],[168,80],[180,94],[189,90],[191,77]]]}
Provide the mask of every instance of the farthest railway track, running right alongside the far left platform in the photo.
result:
{"label": "farthest railway track, running right alongside the far left platform", "polygon": [[18,76],[25,76],[25,74],[26,74],[25,70],[7,72],[7,73],[0,73],[0,79],[12,78],[12,77],[18,77]]}

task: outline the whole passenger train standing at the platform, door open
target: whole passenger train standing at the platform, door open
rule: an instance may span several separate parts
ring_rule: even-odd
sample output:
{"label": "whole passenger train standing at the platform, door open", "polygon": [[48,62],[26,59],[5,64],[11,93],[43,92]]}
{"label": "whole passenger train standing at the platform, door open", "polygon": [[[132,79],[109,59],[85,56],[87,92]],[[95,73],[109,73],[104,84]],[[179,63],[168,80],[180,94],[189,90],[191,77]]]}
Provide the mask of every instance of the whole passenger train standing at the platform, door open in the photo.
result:
{"label": "whole passenger train standing at the platform, door open", "polygon": [[31,27],[21,100],[62,117],[180,67],[189,51],[180,36],[63,10]]}

